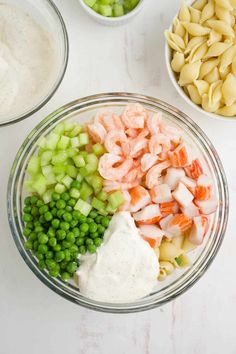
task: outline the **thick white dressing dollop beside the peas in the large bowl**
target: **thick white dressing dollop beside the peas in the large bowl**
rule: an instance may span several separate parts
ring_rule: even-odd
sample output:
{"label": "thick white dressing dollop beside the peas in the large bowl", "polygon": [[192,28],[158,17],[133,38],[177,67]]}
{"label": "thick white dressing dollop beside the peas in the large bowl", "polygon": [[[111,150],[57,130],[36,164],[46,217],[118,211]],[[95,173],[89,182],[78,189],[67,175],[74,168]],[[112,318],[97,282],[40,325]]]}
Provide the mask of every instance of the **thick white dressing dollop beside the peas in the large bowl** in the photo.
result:
{"label": "thick white dressing dollop beside the peas in the large bowl", "polygon": [[84,296],[104,302],[130,302],[150,294],[159,262],[139,235],[129,212],[115,214],[95,254],[81,257],[77,271]]}

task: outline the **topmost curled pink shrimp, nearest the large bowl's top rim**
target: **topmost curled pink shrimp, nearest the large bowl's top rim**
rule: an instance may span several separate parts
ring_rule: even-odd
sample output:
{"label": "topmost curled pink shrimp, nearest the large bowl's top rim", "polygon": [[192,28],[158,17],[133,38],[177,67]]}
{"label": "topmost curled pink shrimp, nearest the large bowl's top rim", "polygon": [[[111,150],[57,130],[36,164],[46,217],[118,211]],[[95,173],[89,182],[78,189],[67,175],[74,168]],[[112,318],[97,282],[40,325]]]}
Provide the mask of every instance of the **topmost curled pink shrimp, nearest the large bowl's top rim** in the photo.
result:
{"label": "topmost curled pink shrimp, nearest the large bowl's top rim", "polygon": [[121,120],[126,128],[142,129],[147,119],[147,111],[139,104],[131,104],[124,109]]}

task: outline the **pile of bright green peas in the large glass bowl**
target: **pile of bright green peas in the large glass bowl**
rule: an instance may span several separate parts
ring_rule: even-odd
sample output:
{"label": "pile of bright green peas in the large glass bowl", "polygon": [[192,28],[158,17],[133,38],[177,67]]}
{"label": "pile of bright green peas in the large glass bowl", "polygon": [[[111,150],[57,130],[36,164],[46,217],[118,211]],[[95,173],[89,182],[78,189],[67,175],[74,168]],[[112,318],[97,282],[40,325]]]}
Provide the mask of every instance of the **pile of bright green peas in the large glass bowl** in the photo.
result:
{"label": "pile of bright green peas in the large glass bowl", "polygon": [[45,204],[37,195],[24,200],[25,248],[38,259],[40,269],[67,281],[79,267],[79,255],[95,253],[102,244],[111,216],[92,210],[86,217],[74,210],[76,199],[69,192],[53,193]]}

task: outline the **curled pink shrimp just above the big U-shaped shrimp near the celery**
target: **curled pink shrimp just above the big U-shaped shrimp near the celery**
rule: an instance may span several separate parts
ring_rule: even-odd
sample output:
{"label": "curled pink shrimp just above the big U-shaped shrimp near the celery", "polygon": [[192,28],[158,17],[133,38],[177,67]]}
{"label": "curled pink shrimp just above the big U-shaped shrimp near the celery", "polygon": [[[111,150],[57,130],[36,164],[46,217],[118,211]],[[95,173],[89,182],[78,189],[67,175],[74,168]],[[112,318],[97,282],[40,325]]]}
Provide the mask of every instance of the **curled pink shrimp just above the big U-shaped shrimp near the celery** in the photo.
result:
{"label": "curled pink shrimp just above the big U-shaped shrimp near the celery", "polygon": [[116,155],[122,155],[123,150],[122,146],[127,144],[128,139],[125,133],[121,130],[113,130],[107,133],[105,137],[105,148],[108,152],[116,154]]}

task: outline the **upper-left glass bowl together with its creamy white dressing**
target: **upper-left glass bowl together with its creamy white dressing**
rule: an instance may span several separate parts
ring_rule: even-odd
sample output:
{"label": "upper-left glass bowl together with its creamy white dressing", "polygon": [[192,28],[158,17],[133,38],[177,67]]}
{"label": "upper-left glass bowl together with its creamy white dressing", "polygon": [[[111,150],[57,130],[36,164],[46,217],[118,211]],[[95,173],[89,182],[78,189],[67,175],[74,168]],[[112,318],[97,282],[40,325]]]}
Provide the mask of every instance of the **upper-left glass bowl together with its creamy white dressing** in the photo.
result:
{"label": "upper-left glass bowl together with its creamy white dressing", "polygon": [[0,3],[0,125],[41,108],[59,86],[67,66],[68,40],[50,1]]}

